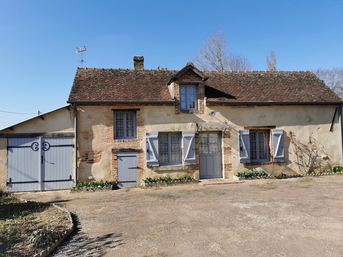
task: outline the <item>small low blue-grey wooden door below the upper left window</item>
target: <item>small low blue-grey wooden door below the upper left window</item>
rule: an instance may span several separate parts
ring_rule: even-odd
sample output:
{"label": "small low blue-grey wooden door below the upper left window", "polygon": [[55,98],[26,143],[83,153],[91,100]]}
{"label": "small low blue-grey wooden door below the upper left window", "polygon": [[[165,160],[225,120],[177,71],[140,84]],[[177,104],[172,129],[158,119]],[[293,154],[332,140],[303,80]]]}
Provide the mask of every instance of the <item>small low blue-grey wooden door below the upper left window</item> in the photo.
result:
{"label": "small low blue-grey wooden door below the upper left window", "polygon": [[118,187],[138,186],[138,152],[118,152]]}

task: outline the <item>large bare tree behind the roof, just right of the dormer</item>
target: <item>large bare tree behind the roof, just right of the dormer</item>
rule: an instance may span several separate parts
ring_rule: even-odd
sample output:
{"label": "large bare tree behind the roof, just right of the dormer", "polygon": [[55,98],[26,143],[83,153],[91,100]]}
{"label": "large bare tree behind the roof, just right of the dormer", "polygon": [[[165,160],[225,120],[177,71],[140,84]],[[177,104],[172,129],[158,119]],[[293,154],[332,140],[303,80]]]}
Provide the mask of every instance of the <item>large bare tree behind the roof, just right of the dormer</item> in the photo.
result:
{"label": "large bare tree behind the roof, just right of the dormer", "polygon": [[217,29],[202,41],[191,60],[200,70],[248,71],[252,64],[238,53],[232,53],[225,31]]}

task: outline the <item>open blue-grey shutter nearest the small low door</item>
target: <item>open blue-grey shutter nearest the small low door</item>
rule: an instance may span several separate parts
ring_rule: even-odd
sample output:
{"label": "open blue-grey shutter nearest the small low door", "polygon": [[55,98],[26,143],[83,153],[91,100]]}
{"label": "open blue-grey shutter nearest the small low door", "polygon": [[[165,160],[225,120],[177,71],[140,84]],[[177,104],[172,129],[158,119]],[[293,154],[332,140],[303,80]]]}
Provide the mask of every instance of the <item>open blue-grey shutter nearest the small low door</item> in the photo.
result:
{"label": "open blue-grey shutter nearest the small low door", "polygon": [[158,132],[145,133],[146,167],[158,166]]}

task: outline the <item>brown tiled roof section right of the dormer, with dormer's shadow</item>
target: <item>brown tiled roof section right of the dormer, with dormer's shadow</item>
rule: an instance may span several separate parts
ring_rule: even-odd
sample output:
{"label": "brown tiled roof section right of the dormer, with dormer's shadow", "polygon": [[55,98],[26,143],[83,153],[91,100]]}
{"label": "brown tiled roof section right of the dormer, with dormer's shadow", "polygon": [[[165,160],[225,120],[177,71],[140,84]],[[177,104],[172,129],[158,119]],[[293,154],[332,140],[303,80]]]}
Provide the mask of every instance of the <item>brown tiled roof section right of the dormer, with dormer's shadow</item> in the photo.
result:
{"label": "brown tiled roof section right of the dormer, with dormer's shadow", "polygon": [[208,101],[342,102],[311,71],[203,72]]}

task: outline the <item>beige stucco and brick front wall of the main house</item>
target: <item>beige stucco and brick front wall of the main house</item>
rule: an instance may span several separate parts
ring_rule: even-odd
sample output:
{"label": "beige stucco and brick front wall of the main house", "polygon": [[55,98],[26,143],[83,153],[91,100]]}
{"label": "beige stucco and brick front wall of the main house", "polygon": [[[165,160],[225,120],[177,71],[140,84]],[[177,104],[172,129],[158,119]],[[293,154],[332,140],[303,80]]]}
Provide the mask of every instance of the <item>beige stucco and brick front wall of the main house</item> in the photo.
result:
{"label": "beige stucco and brick front wall of the main house", "polygon": [[[223,177],[232,178],[237,171],[265,170],[279,175],[297,173],[296,156],[286,136],[292,131],[296,137],[307,144],[310,132],[318,144],[322,144],[319,155],[327,158],[317,158],[314,165],[316,171],[323,170],[329,163],[340,163],[340,136],[338,114],[336,114],[332,132],[329,131],[336,106],[206,106],[204,114],[175,113],[175,107],[170,105],[78,105],[78,134],[79,134],[79,180],[88,176],[100,180],[117,179],[116,152],[112,148],[140,147],[139,152],[139,183],[145,176],[158,177],[171,175],[199,176],[199,159],[196,165],[186,170],[158,171],[145,167],[144,132],[179,132],[196,131],[197,121],[226,121],[235,126],[228,130],[222,138]],[[115,140],[113,130],[113,110],[111,109],[140,109],[137,111],[137,139]],[[217,113],[209,115],[211,110]],[[275,126],[284,131],[285,162],[270,165],[248,166],[238,162],[237,130],[248,126]],[[198,142],[196,139],[196,148]],[[88,154],[88,155],[86,155]],[[92,158],[89,158],[91,155]],[[88,157],[87,157],[88,156]],[[87,159],[86,159],[87,158]],[[177,167],[176,167],[177,168]]]}

